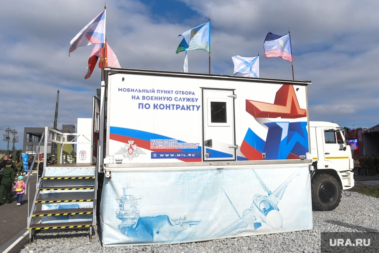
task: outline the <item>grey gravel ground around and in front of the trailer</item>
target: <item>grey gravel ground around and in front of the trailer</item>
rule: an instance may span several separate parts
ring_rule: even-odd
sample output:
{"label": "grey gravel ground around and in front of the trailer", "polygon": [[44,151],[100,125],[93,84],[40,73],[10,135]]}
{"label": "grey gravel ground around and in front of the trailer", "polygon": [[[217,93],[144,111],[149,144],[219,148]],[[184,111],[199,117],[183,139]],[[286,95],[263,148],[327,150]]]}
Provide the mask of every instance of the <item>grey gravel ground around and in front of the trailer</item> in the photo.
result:
{"label": "grey gravel ground around and in front of the trailer", "polygon": [[[379,181],[356,184],[379,185]],[[350,195],[350,196],[349,196]],[[379,199],[343,191],[340,205],[330,212],[313,211],[313,230],[271,235],[238,237],[199,243],[152,246],[102,247],[100,230],[92,242],[88,230],[41,231],[20,253],[239,253],[239,252],[320,252],[321,232],[379,232]],[[54,232],[54,233],[52,233]]]}

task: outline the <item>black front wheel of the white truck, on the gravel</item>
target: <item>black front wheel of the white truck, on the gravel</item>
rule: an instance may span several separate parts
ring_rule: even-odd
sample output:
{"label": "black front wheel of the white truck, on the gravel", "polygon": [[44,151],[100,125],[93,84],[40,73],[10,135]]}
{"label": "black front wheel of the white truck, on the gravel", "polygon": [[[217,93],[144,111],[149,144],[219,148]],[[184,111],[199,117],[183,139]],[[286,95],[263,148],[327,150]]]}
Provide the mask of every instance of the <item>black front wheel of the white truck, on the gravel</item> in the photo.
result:
{"label": "black front wheel of the white truck, on the gravel", "polygon": [[332,211],[340,204],[341,187],[333,176],[316,174],[311,185],[313,210]]}

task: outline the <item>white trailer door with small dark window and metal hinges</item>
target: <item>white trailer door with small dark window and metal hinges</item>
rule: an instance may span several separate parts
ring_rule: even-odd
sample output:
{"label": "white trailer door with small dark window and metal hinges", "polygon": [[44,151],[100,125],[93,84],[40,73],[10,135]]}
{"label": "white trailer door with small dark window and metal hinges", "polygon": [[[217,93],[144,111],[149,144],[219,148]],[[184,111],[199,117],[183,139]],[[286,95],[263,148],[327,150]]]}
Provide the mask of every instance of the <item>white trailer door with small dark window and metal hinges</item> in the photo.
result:
{"label": "white trailer door with small dark window and metal hinges", "polygon": [[203,159],[235,160],[233,90],[203,90]]}

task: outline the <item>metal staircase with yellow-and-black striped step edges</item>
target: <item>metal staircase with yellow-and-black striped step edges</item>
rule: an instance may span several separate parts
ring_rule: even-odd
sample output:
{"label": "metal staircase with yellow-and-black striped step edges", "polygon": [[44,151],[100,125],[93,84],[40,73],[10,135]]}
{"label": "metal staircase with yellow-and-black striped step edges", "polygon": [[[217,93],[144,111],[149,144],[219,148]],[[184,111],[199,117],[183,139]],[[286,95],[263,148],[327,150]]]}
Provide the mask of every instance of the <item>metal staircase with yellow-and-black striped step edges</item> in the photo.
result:
{"label": "metal staircase with yellow-and-black striped step edges", "polygon": [[29,243],[37,232],[55,229],[88,229],[91,240],[96,225],[96,190],[96,165],[45,164],[28,218]]}

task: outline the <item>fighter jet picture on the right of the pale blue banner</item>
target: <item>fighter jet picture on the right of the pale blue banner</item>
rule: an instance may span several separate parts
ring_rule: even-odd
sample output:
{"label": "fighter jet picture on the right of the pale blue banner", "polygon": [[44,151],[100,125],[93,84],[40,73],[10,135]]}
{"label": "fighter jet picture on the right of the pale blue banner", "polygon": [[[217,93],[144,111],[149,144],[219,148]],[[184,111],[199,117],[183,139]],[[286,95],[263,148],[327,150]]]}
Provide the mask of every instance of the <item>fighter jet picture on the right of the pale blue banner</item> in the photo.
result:
{"label": "fighter jet picture on the right of the pale blue banner", "polygon": [[267,196],[255,194],[253,197],[253,203],[251,203],[250,208],[243,211],[241,217],[237,212],[236,208],[234,207],[233,203],[227,196],[226,192],[222,189],[226,197],[228,198],[231,206],[233,207],[234,212],[237,214],[238,220],[232,222],[229,226],[224,228],[219,233],[219,237],[225,236],[237,229],[247,228],[248,226],[256,230],[262,226],[262,223],[265,223],[267,226],[273,229],[279,229],[283,226],[283,218],[279,213],[278,202],[282,199],[287,186],[298,175],[299,171],[296,171],[291,176],[289,176],[287,180],[285,180],[273,192],[270,191],[270,189],[266,186],[266,184],[263,182],[263,180],[259,177],[259,175],[255,172],[254,169],[253,172],[262,188],[267,192]]}

